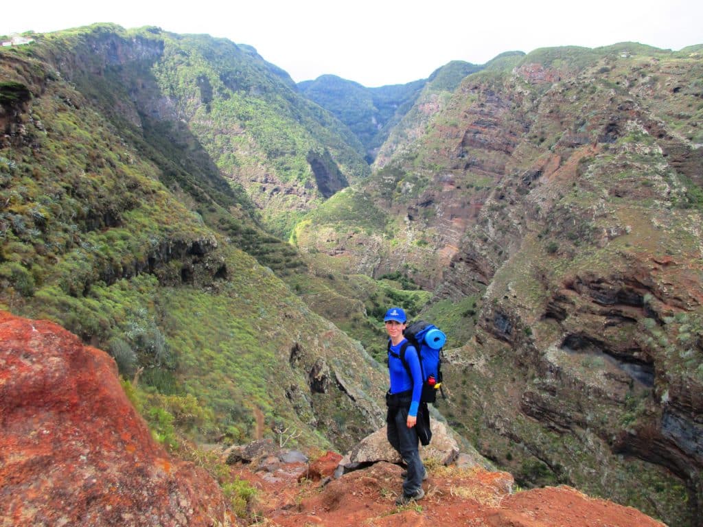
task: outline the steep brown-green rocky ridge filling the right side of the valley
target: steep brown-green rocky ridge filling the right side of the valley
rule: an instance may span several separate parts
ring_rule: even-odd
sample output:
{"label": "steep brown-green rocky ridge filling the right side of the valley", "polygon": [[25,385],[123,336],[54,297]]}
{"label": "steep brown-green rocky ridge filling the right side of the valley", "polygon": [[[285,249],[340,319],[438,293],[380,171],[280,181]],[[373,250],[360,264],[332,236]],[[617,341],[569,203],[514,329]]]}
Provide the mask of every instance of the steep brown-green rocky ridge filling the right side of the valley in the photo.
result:
{"label": "steep brown-green rocky ridge filling the right side of the valley", "polygon": [[324,265],[434,289],[423,314],[465,344],[440,409],[520,483],[681,526],[703,517],[702,67],[700,46],[508,54],[418,99],[342,194],[359,216],[296,230]]}

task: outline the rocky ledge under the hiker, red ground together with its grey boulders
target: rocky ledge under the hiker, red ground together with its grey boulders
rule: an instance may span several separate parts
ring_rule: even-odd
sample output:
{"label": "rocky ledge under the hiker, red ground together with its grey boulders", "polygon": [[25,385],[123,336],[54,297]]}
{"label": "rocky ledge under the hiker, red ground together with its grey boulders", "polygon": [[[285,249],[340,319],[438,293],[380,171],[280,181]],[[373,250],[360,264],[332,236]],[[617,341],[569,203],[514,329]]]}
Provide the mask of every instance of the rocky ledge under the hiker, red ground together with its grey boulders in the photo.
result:
{"label": "rocky ledge under the hiker, red ground together with its grey boulders", "polygon": [[[433,426],[437,434],[430,444],[439,450],[448,447],[456,454],[456,442],[450,439],[451,445],[446,443],[449,431],[439,424],[436,429]],[[342,469],[349,455],[342,458],[318,450],[304,455],[265,440],[233,447],[223,455],[229,455],[231,469],[239,479],[257,488],[252,516],[279,526],[429,527],[444,523],[586,527],[602,523],[612,527],[664,527],[636,509],[593,499],[567,486],[516,490],[511,474],[484,466],[472,453],[460,453],[446,463],[423,455],[427,469],[425,497],[416,505],[397,507],[394,500],[401,492],[402,467],[388,450],[383,428],[354,446],[349,455],[365,461],[348,471]],[[241,459],[234,460],[234,452]]]}

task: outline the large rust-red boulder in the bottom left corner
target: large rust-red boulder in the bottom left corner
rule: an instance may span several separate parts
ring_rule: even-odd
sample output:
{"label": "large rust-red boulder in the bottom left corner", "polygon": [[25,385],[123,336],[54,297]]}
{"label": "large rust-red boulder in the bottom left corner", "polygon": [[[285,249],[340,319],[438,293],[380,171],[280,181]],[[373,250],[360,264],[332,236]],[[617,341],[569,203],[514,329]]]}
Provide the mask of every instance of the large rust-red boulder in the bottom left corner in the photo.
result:
{"label": "large rust-red boulder in the bottom left corner", "polygon": [[43,320],[0,313],[4,526],[214,526],[217,483],[155,443],[115,361]]}

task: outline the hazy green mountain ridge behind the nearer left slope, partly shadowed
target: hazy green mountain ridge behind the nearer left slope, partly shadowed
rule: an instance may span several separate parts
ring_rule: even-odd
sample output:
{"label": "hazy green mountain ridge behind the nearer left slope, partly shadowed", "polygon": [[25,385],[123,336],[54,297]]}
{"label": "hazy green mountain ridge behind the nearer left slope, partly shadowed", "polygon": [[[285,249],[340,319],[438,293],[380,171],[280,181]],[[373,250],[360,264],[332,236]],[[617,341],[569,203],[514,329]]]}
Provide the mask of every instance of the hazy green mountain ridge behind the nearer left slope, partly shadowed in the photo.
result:
{"label": "hazy green mountain ridge behind the nearer left slope, partly shadowed", "polygon": [[162,155],[172,145],[186,150],[191,171],[210,167],[241,186],[278,233],[368,175],[354,135],[250,46],[115,25],[38,40],[106,115]]}

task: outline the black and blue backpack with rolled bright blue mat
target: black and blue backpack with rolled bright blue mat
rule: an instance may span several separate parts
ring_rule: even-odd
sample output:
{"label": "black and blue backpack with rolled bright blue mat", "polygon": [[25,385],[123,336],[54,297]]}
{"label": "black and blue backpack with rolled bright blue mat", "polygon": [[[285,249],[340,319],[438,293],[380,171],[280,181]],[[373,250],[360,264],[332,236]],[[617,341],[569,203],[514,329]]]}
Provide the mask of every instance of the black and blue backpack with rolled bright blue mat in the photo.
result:
{"label": "black and blue backpack with rolled bright blue mat", "polygon": [[437,390],[441,391],[441,396],[444,396],[444,391],[441,388],[441,349],[446,342],[446,335],[437,328],[437,326],[418,320],[405,328],[403,336],[407,342],[401,346],[400,353],[391,351],[390,341],[388,342],[388,353],[399,358],[412,378],[410,365],[405,360],[405,350],[408,344],[415,346],[420,358],[420,371],[423,372],[423,393],[420,396],[420,403],[434,403],[437,399]]}

